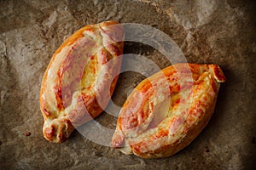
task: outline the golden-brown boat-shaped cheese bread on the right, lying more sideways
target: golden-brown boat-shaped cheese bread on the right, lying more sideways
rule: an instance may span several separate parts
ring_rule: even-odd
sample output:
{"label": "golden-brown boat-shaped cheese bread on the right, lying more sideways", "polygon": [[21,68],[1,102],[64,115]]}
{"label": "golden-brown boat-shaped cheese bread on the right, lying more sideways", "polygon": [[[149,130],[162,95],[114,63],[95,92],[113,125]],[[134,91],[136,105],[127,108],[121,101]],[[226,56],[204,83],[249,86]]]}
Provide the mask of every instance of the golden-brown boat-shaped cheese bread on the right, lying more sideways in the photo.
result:
{"label": "golden-brown boat-shaped cheese bread on the right, lying more sideways", "polygon": [[148,77],[126,99],[113,147],[144,158],[172,156],[206,127],[224,81],[218,65],[177,64]]}

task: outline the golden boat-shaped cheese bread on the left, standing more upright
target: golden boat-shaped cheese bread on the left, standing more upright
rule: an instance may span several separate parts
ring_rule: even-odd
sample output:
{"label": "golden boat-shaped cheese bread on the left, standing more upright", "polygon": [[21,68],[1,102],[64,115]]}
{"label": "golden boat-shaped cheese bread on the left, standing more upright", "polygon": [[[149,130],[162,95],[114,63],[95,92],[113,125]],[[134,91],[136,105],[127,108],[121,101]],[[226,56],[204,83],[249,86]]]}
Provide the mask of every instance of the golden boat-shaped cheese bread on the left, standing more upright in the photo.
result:
{"label": "golden boat-shaped cheese bread on the left, standing more upright", "polygon": [[45,139],[63,142],[101,114],[118,80],[123,40],[124,28],[105,21],[84,26],[56,50],[40,92]]}

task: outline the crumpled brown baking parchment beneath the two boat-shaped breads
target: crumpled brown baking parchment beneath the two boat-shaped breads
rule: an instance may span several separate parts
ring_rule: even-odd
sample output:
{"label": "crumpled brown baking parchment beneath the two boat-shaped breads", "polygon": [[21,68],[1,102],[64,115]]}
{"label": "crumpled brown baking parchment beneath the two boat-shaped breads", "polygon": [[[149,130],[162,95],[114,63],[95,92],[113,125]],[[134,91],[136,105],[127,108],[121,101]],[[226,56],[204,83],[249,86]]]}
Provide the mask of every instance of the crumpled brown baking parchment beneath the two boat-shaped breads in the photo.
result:
{"label": "crumpled brown baking parchment beneath the two boat-shaped breads", "polygon": [[[0,168],[255,168],[254,11],[253,1],[238,0],[0,1]],[[177,43],[188,62],[223,69],[227,81],[211,121],[175,156],[149,160],[125,156],[78,131],[62,144],[44,139],[38,94],[49,59],[74,31],[103,20],[153,26]],[[158,50],[139,43],[125,42],[125,54],[141,54],[160,68],[172,65]],[[121,106],[143,78],[134,71],[123,72],[113,102]],[[96,122],[114,128],[116,117],[103,112]]]}

